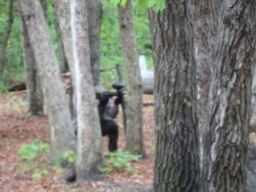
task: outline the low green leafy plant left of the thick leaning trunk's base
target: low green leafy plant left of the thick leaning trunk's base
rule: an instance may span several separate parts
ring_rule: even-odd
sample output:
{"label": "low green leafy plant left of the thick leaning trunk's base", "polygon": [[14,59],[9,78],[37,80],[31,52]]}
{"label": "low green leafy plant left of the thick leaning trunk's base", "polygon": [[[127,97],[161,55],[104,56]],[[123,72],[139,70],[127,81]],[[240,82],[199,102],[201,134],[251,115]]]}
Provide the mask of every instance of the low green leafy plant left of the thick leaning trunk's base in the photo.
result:
{"label": "low green leafy plant left of the thick leaning trunk's base", "polygon": [[33,161],[36,155],[40,153],[48,153],[49,145],[41,144],[40,139],[35,139],[31,142],[31,144],[23,145],[19,149],[20,160],[24,161],[28,159],[29,161]]}

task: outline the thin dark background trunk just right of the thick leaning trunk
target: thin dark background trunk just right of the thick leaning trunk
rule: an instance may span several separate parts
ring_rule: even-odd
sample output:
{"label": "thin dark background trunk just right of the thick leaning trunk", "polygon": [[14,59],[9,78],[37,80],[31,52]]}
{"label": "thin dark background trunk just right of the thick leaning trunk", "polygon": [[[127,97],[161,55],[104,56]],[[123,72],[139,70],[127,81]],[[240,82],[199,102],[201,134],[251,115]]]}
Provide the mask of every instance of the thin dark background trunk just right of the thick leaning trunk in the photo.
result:
{"label": "thin dark background trunk just right of the thick leaning trunk", "polygon": [[[53,7],[54,7],[54,5],[53,5]],[[66,58],[66,54],[65,54],[65,51],[64,51],[63,38],[62,38],[61,30],[60,30],[59,20],[58,20],[57,17],[55,18],[54,25],[55,25],[55,30],[56,30],[57,39],[58,39],[60,72],[61,73],[66,73],[69,70],[68,69],[68,60]]]}

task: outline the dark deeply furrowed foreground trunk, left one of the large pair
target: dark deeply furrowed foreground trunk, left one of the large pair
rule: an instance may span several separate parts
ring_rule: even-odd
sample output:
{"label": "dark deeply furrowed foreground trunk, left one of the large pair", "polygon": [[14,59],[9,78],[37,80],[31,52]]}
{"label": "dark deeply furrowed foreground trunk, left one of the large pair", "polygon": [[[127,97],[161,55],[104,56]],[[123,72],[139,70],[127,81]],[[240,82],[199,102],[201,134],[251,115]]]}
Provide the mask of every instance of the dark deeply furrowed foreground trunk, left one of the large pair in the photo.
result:
{"label": "dark deeply furrowed foreground trunk, left one of the large pair", "polygon": [[155,192],[199,191],[193,15],[188,1],[150,10],[155,71]]}

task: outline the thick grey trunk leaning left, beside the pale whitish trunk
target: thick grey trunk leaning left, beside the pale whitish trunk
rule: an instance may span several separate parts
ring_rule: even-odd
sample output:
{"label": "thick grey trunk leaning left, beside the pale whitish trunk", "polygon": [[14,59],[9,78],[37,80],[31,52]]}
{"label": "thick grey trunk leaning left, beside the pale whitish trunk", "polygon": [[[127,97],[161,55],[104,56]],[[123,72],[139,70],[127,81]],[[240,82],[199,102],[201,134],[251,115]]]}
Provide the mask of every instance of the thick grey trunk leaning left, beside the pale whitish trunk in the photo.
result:
{"label": "thick grey trunk leaning left, beside the pale whitish trunk", "polygon": [[41,79],[51,129],[51,157],[54,163],[64,152],[75,150],[76,139],[68,100],[60,79],[60,71],[40,1],[19,0],[18,2]]}

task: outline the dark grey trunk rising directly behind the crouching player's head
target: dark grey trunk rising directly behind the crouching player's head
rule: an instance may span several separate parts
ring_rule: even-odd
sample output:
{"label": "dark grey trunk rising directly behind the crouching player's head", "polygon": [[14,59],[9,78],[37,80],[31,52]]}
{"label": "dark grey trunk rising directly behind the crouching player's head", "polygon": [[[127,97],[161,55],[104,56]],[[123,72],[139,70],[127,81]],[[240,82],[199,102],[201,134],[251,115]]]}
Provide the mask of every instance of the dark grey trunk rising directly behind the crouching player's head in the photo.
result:
{"label": "dark grey trunk rising directly behind the crouching player's head", "polygon": [[100,28],[102,20],[102,4],[99,0],[86,0],[87,15],[89,17],[90,58],[93,85],[98,85],[100,80]]}

